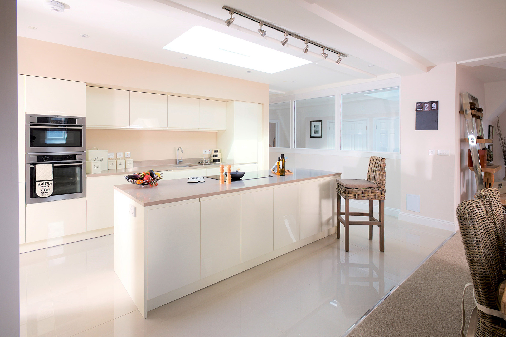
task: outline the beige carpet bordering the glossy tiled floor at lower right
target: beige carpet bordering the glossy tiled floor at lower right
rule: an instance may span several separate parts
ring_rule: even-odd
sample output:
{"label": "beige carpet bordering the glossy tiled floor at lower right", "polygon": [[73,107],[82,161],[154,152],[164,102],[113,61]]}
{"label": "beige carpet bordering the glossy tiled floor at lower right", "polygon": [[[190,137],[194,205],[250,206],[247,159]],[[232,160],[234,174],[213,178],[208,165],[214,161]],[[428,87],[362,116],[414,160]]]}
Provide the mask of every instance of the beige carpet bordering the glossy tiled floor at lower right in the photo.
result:
{"label": "beige carpet bordering the glossy tiled floor at lower right", "polygon": [[[468,282],[471,275],[457,232],[348,337],[459,336],[462,288]],[[467,321],[473,308],[466,293]]]}

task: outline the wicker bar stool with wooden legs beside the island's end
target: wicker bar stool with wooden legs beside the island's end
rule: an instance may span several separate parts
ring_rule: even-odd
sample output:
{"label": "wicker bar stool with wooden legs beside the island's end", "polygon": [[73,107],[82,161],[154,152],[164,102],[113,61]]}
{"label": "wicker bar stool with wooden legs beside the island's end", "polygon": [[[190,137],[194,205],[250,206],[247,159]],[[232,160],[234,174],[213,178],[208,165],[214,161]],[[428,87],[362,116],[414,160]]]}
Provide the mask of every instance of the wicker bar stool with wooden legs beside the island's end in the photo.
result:
{"label": "wicker bar stool with wooden legs beside the island's end", "polygon": [[[368,225],[369,240],[372,240],[372,226],[379,226],[379,251],[385,251],[385,158],[369,158],[367,180],[336,179],[338,191],[338,228],[341,237],[341,223],[345,226],[345,251],[350,251],[350,225]],[[341,216],[341,197],[345,199],[345,217]],[[350,212],[350,200],[368,200],[369,212]],[[372,214],[372,203],[379,202],[379,220]],[[350,216],[367,216],[369,220],[350,221]]]}

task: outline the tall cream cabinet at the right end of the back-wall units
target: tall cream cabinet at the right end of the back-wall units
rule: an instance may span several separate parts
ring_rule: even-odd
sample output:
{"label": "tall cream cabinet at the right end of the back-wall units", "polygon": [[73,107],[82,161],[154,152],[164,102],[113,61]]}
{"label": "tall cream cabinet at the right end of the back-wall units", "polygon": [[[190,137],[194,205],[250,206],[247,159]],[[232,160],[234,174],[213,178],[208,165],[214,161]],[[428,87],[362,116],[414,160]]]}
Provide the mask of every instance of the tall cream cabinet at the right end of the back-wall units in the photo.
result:
{"label": "tall cream cabinet at the right end of the back-wall units", "polygon": [[224,163],[238,165],[259,162],[261,120],[261,104],[227,102],[227,129],[218,132],[218,148],[222,151]]}

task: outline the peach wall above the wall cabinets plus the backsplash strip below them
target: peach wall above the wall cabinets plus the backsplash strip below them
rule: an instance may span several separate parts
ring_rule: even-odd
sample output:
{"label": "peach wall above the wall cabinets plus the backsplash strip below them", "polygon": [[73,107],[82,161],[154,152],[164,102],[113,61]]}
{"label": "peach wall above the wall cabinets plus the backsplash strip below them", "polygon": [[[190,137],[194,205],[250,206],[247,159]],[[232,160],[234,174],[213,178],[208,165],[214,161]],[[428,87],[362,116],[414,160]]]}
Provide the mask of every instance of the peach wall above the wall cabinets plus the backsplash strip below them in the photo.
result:
{"label": "peach wall above the wall cabinets plus the backsplash strip below them", "polygon": [[[98,53],[25,37],[18,37],[18,73],[81,81],[105,87],[179,94],[187,97],[222,101],[235,100],[263,104],[262,141],[264,151],[262,154],[259,154],[259,166],[267,167],[269,85],[266,83],[252,82],[233,77]],[[87,145],[119,149],[123,148],[123,144],[131,140],[126,130],[120,133],[113,132],[112,130],[107,130],[105,132],[116,134],[116,140],[107,140],[107,136],[103,132],[91,131],[87,136]],[[168,157],[156,159],[174,158],[171,157],[172,152],[174,152],[172,150],[174,146],[176,146],[176,148],[179,146],[183,148],[186,147],[188,151],[190,151],[191,148],[195,147],[196,149],[196,147],[200,147],[199,156],[202,157],[201,150],[204,147],[215,149],[217,143],[216,132],[147,132],[152,132],[152,134],[139,138],[140,148],[147,148],[153,145],[155,145],[155,148],[158,148],[158,145],[163,145],[170,149],[163,155]],[[208,135],[202,135],[202,133]],[[213,135],[210,135],[210,133]],[[161,135],[166,135],[170,140],[163,139]],[[154,141],[154,143],[145,142],[145,139]],[[195,141],[202,142],[197,145]],[[109,151],[109,149],[107,150]],[[118,151],[121,152],[121,150]],[[122,151],[130,150],[127,149]],[[165,149],[162,151],[165,151]],[[132,152],[134,152],[134,150],[132,150]],[[140,154],[140,151],[138,153]],[[143,156],[148,155],[146,154]],[[141,160],[140,158],[134,159]]]}

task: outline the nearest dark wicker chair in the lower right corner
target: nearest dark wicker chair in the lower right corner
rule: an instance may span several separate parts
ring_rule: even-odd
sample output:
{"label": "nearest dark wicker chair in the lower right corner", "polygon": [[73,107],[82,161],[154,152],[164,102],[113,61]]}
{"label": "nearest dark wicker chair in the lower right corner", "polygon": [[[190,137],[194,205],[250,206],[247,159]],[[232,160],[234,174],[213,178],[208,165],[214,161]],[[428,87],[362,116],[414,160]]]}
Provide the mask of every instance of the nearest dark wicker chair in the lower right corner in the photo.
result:
{"label": "nearest dark wicker chair in the lower right corner", "polygon": [[[486,192],[486,191],[485,191]],[[483,193],[480,196],[485,197]],[[465,312],[462,295],[461,336],[506,336],[506,320],[498,307],[497,288],[504,281],[501,258],[496,239],[494,217],[489,201],[477,199],[461,202],[457,209],[457,221],[462,236],[466,259],[471,271],[473,297],[476,307],[464,334]],[[502,316],[502,317],[501,317]]]}

